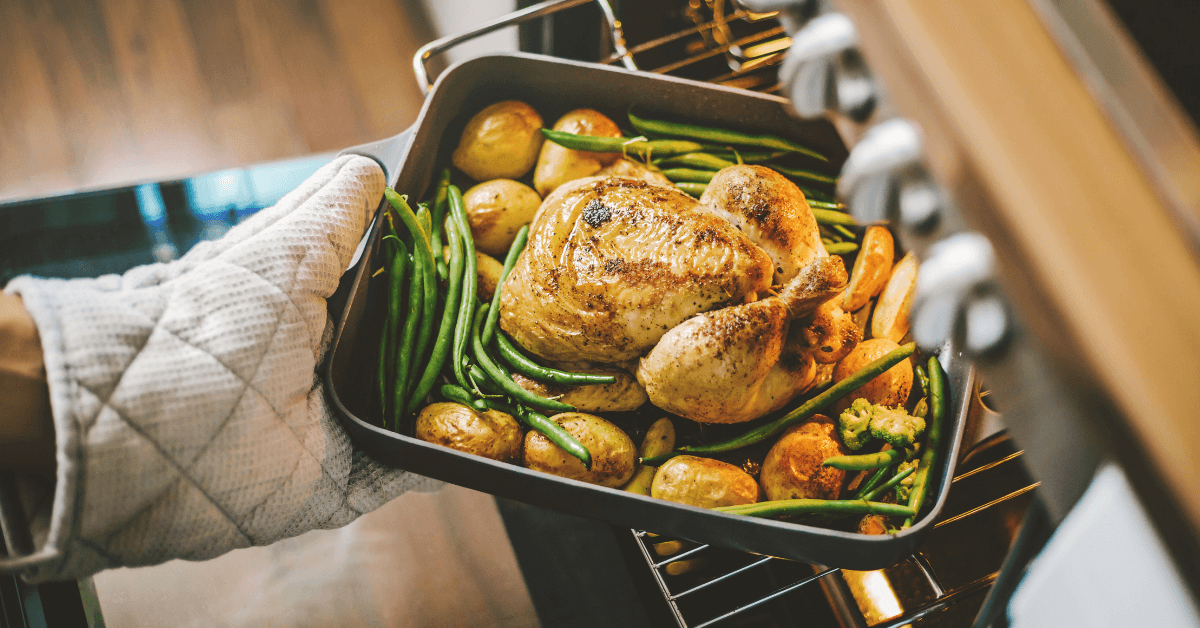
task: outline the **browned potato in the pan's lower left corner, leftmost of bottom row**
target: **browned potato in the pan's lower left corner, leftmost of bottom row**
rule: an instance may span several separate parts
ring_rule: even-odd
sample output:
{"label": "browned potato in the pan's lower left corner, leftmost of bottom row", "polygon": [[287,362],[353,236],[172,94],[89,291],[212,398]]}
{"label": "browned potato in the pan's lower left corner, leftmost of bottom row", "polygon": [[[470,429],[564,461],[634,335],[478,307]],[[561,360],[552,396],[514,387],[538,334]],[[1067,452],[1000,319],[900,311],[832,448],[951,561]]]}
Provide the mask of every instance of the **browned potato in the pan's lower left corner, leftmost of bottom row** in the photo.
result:
{"label": "browned potato in the pan's lower left corner, leftmost of bottom row", "polygon": [[478,412],[461,403],[431,403],[416,415],[416,437],[500,462],[521,457],[521,425],[494,409]]}

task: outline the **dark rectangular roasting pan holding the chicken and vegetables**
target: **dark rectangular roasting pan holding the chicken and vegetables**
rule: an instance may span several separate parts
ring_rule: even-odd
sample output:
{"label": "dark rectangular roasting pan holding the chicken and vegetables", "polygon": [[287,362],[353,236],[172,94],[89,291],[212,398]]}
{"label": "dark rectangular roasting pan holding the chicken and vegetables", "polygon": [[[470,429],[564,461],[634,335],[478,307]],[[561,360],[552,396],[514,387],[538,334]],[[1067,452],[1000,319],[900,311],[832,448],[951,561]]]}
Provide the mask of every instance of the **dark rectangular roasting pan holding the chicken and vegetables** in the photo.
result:
{"label": "dark rectangular roasting pan holding the chicken and vegetables", "polygon": [[[449,163],[467,119],[485,106],[508,98],[528,102],[547,125],[578,107],[624,120],[626,108],[636,104],[643,110],[691,121],[784,134],[839,161],[846,155],[832,125],[791,118],[785,101],[775,96],[532,54],[484,56],[455,65],[438,78],[412,128],[347,152],[376,159],[391,186],[413,198],[424,198],[438,168]],[[932,478],[936,501],[920,521],[894,536],[863,536],[653,500],[462,454],[372,425],[365,418],[370,418],[367,407],[383,313],[382,303],[368,298],[371,270],[378,267],[377,227],[378,220],[356,265],[347,275],[353,282],[334,336],[325,385],[352,441],[378,460],[469,489],[619,526],[848,569],[883,568],[906,556],[946,502],[974,377],[970,363],[953,347],[941,353],[949,375],[953,414],[938,455],[940,468]]]}

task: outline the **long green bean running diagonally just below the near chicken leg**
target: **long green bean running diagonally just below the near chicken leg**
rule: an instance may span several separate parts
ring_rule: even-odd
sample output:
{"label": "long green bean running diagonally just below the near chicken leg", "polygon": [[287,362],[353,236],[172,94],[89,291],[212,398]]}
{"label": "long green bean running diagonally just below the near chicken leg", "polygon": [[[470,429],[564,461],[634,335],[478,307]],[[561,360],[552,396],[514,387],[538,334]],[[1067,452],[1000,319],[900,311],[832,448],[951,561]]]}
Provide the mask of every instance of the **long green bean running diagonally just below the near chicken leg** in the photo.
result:
{"label": "long green bean running diagonally just below the near chicken leg", "polygon": [[886,353],[884,355],[880,357],[871,364],[863,366],[857,372],[854,372],[854,375],[851,375],[850,377],[842,379],[841,382],[838,382],[830,385],[829,388],[824,389],[823,391],[821,391],[821,394],[805,401],[792,412],[788,412],[787,414],[766,425],[760,425],[758,427],[755,427],[743,433],[742,436],[730,438],[728,441],[721,441],[719,443],[712,443],[706,445],[680,447],[679,449],[676,449],[670,454],[642,460],[642,463],[656,467],[677,455],[720,454],[724,451],[742,449],[743,447],[749,447],[751,444],[766,441],[767,438],[781,433],[784,430],[787,430],[792,425],[808,420],[818,411],[824,409],[826,406],[853,393],[854,390],[858,390],[866,382],[875,379],[888,369],[908,359],[908,357],[912,355],[916,349],[917,345],[913,342],[896,347],[895,349]]}

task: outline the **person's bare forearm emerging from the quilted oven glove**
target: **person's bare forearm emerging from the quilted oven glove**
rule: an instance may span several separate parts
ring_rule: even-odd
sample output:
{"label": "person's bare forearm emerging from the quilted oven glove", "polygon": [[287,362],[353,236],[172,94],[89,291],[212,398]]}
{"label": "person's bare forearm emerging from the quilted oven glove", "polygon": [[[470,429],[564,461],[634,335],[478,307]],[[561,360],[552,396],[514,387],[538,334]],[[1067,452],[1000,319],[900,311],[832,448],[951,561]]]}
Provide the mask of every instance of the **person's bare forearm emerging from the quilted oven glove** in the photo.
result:
{"label": "person's bare forearm emerging from the quilted oven glove", "polygon": [[0,471],[54,471],[54,420],[37,327],[0,293]]}

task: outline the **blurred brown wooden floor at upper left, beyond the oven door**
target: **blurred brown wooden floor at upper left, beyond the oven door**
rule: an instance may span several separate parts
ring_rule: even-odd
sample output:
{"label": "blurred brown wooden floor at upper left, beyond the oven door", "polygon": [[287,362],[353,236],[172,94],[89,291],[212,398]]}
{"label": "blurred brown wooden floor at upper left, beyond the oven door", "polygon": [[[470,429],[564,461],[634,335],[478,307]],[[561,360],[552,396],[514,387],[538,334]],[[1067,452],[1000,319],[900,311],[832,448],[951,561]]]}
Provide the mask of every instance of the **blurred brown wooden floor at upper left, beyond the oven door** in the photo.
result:
{"label": "blurred brown wooden floor at upper left, beyond the oven door", "polygon": [[418,0],[2,0],[0,202],[395,134]]}

